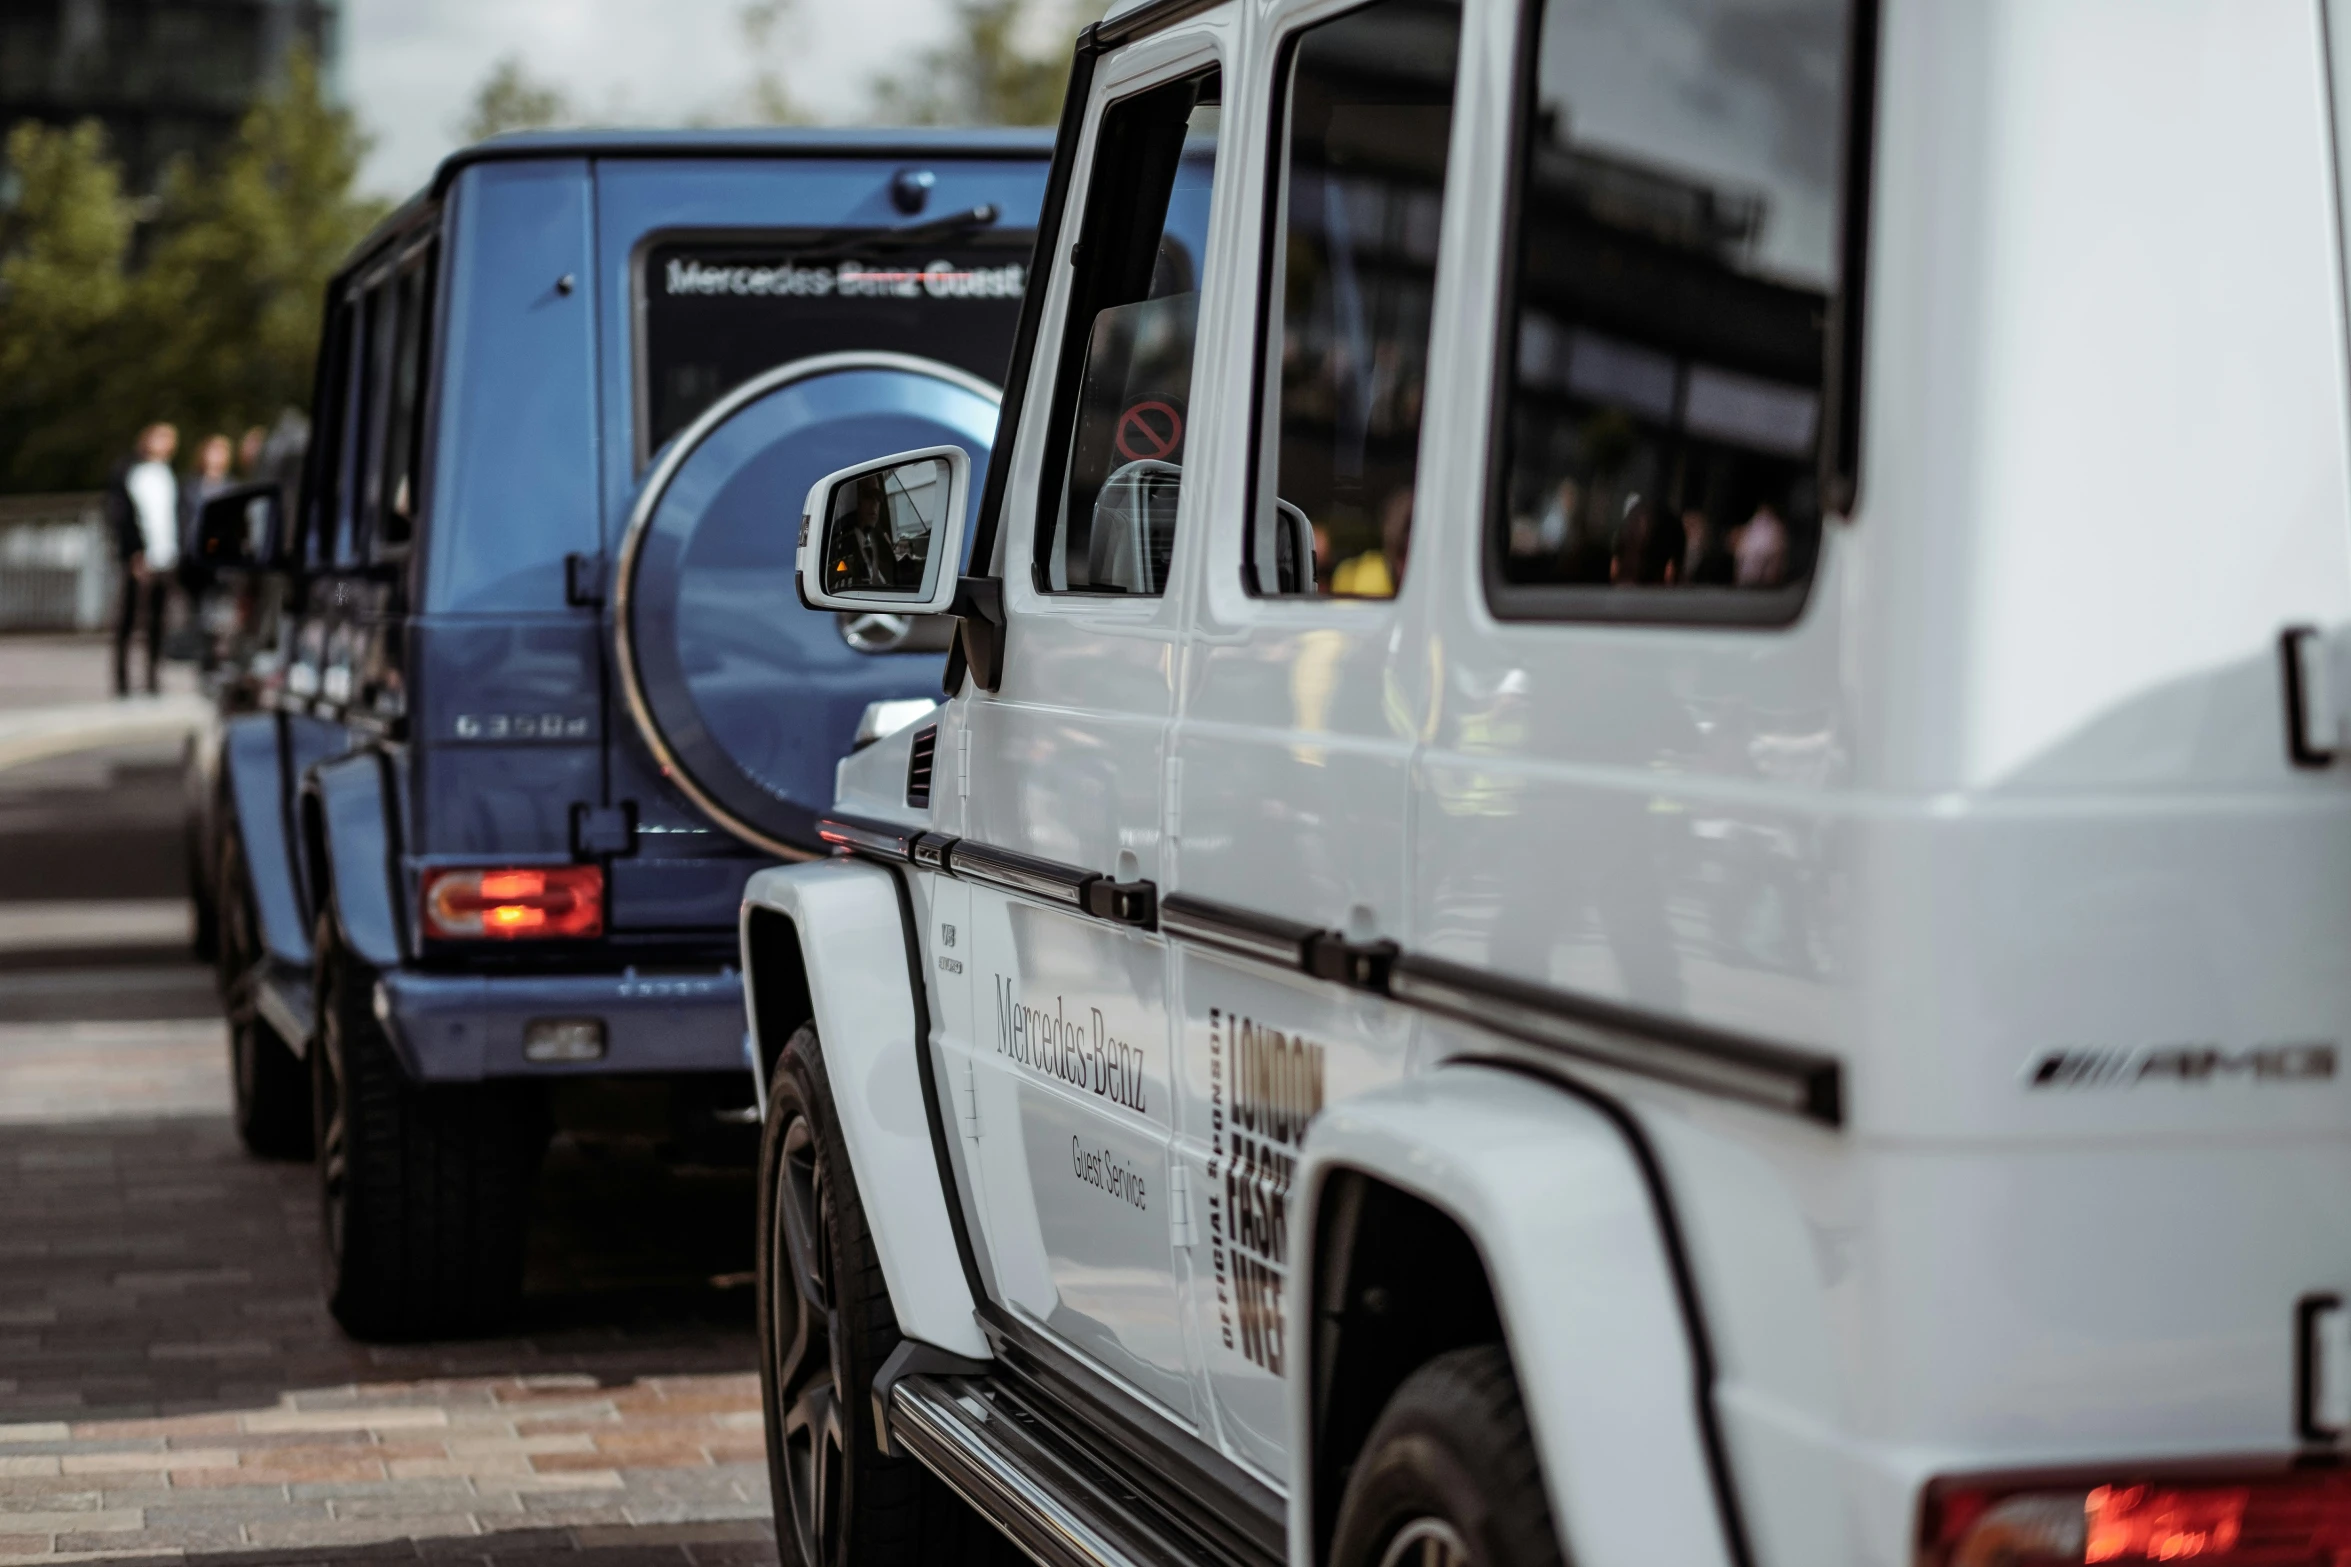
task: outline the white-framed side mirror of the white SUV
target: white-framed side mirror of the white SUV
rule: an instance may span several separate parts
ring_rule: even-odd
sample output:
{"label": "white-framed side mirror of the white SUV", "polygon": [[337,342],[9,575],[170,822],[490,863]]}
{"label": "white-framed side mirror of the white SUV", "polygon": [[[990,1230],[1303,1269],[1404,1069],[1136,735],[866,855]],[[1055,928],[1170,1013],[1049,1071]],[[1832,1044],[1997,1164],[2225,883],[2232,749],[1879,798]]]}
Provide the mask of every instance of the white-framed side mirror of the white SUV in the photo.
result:
{"label": "white-framed side mirror of the white SUV", "polygon": [[816,482],[799,515],[809,608],[940,616],[955,601],[971,510],[971,456],[924,446]]}

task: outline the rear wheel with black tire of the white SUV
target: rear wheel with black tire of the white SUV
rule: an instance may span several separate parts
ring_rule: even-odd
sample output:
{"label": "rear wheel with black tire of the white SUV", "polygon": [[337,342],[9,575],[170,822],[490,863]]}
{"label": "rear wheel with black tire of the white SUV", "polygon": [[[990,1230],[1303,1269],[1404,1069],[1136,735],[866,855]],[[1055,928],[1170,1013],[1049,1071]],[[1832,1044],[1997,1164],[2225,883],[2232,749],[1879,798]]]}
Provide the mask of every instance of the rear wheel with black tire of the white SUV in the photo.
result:
{"label": "rear wheel with black tire of the white SUV", "polygon": [[1340,1497],[1331,1567],[1561,1567],[1542,1464],[1500,1344],[1404,1379]]}

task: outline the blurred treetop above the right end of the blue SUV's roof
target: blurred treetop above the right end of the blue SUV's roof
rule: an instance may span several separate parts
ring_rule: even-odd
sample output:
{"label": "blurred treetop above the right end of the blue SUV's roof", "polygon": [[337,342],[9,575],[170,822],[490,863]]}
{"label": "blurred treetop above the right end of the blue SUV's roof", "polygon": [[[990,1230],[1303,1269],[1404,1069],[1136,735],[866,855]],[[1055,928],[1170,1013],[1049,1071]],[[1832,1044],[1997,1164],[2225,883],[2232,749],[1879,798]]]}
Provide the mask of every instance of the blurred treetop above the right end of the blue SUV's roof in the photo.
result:
{"label": "blurred treetop above the right end of the blue SUV's roof", "polygon": [[1056,26],[1037,28],[1030,0],[955,0],[950,38],[922,49],[912,68],[875,80],[875,117],[1053,125],[1070,82],[1070,42],[1079,23],[1098,14],[1100,5],[1063,0]]}

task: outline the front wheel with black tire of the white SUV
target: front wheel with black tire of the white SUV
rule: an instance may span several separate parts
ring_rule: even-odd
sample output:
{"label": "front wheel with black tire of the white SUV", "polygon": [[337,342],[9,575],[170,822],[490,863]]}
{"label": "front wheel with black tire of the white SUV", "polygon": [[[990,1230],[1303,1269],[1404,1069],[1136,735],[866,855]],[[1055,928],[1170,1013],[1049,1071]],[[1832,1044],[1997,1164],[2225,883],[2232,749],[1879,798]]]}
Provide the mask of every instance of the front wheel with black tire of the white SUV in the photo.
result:
{"label": "front wheel with black tire of the white SUV", "polygon": [[1023,1560],[915,1459],[875,1440],[872,1379],[898,1349],[832,1090],[802,1024],[759,1139],[759,1403],[783,1567]]}

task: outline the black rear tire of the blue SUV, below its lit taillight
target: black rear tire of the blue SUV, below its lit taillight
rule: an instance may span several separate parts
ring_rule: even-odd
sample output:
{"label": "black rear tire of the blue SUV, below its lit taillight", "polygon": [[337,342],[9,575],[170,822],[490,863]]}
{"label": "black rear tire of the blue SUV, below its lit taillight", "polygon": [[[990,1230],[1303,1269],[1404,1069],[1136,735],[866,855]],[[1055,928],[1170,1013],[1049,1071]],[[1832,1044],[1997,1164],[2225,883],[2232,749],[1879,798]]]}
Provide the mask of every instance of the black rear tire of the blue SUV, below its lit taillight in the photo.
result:
{"label": "black rear tire of the blue SUV, below its lit taillight", "polygon": [[503,1327],[522,1297],[543,1109],[515,1083],[411,1083],[374,973],[317,921],[310,1048],[327,1309],[357,1339]]}

